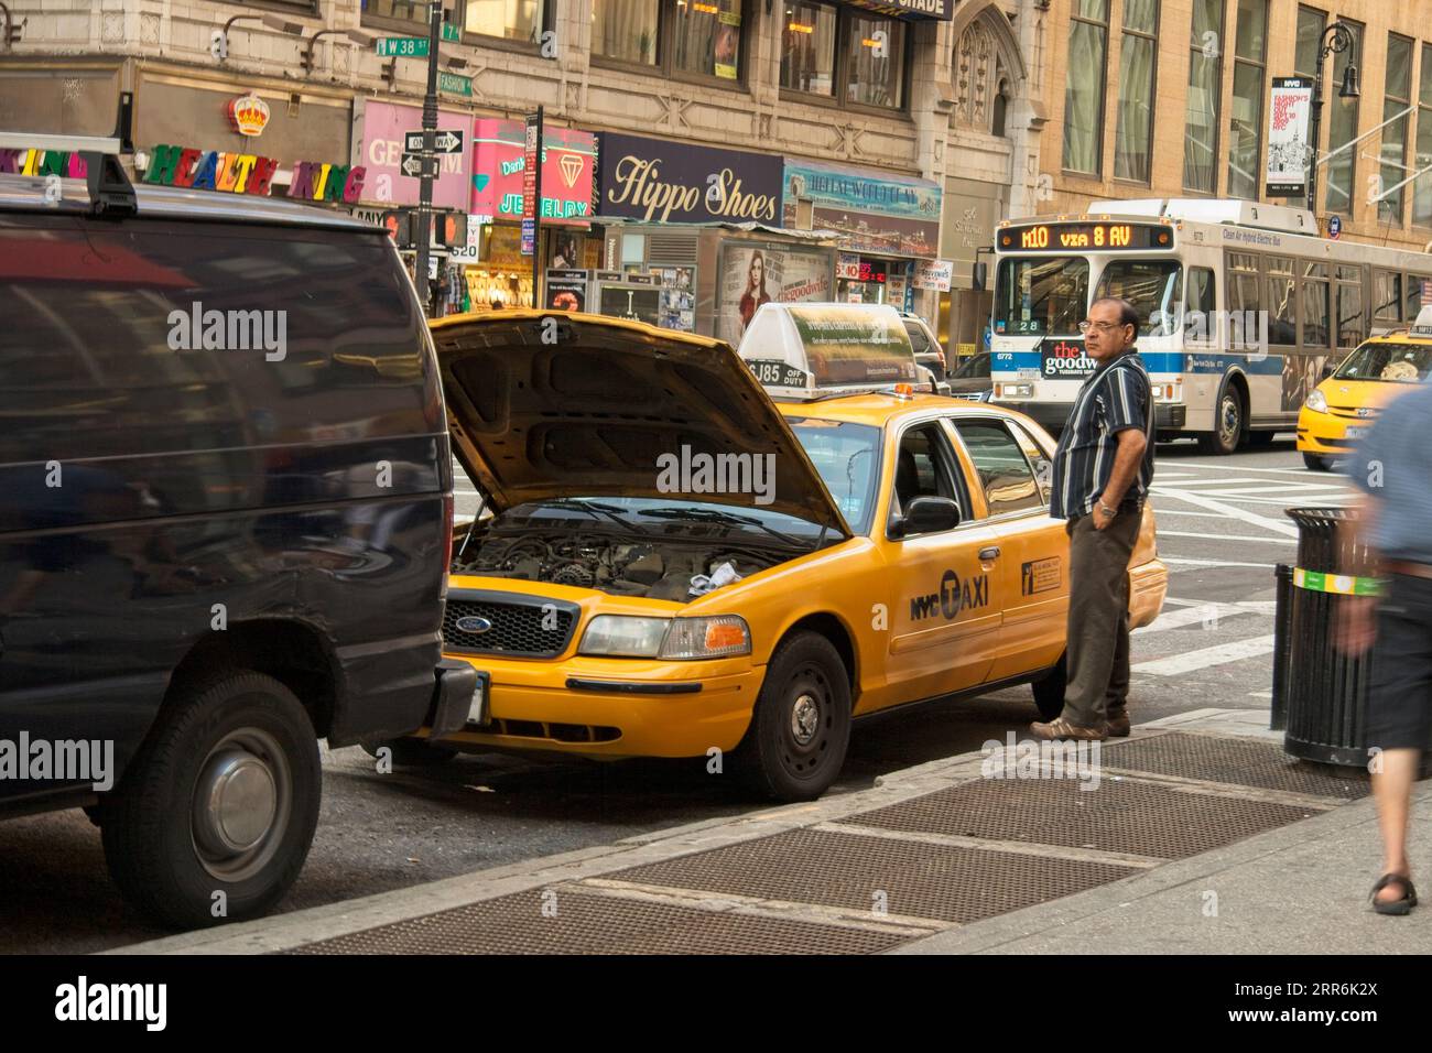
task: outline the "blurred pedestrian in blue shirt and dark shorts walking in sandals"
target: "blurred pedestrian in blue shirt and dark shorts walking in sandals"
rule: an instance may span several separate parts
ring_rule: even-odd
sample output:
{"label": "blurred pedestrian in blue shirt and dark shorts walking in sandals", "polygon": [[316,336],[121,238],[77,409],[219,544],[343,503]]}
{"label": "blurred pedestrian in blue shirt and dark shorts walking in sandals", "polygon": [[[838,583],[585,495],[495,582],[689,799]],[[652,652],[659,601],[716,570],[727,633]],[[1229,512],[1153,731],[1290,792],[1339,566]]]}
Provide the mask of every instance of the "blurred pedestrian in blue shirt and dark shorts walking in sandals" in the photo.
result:
{"label": "blurred pedestrian in blue shirt and dark shorts walking in sandals", "polygon": [[[1432,385],[1398,395],[1362,440],[1350,464],[1362,490],[1350,539],[1366,559],[1345,567],[1380,576],[1380,597],[1339,600],[1337,642],[1360,655],[1372,648],[1368,745],[1372,794],[1382,828],[1382,878],[1372,890],[1379,914],[1418,905],[1408,865],[1408,815],[1418,762],[1432,732]],[[1356,554],[1359,549],[1346,547]]]}

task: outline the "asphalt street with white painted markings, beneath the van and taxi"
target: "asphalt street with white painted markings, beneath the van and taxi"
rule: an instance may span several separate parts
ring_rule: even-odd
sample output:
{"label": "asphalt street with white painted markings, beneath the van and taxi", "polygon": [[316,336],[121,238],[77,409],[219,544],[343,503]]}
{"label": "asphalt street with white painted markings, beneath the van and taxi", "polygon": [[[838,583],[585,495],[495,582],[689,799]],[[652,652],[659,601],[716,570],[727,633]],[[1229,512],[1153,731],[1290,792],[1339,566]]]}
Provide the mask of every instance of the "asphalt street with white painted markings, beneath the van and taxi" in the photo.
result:
{"label": "asphalt street with white painted markings, beneath the van and taxi", "polygon": [[[1266,708],[1273,564],[1290,562],[1292,504],[1345,503],[1337,476],[1310,473],[1287,437],[1203,457],[1161,446],[1154,509],[1169,603],[1134,638],[1136,722],[1206,706]],[[474,496],[458,497],[460,513]],[[944,702],[856,725],[833,792],[889,771],[979,749],[1035,719],[1028,688]],[[621,837],[765,807],[702,761],[548,764],[460,758],[378,775],[357,748],[325,752],[324,808],[308,865],[282,910],[349,900]],[[76,953],[163,933],[109,884],[99,831],[79,811],[0,824],[0,950]]]}

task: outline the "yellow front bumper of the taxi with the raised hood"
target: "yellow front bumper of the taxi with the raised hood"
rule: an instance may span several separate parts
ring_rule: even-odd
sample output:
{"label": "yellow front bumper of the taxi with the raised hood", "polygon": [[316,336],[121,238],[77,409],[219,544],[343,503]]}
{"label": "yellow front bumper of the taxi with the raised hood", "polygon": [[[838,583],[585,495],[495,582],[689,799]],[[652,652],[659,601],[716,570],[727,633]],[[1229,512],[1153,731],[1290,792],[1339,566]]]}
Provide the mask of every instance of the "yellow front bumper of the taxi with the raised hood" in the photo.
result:
{"label": "yellow front bumper of the taxi with the raised hood", "polygon": [[420,735],[468,752],[556,752],[617,759],[733,749],[750,723],[765,666],[749,655],[703,662],[491,655],[458,659],[485,672],[487,725]]}

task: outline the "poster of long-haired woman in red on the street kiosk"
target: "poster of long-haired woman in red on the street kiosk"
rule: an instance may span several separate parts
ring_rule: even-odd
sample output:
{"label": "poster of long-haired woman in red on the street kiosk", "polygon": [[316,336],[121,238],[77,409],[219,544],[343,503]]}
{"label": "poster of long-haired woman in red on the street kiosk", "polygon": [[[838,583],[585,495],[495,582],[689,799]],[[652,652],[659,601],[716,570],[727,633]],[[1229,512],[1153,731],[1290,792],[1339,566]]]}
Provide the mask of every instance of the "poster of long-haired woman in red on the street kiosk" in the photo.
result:
{"label": "poster of long-haired woman in red on the street kiosk", "polygon": [[819,304],[832,298],[831,254],[788,245],[722,246],[716,335],[733,347],[762,304]]}

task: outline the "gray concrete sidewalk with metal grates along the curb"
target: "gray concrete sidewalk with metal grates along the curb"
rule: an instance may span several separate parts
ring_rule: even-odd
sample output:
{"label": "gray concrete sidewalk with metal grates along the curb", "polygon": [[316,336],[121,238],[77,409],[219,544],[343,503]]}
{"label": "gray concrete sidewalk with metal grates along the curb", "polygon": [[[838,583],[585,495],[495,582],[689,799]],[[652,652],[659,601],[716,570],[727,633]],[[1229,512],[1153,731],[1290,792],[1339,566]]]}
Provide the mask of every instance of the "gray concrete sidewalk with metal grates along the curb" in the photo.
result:
{"label": "gray concrete sidewalk with metal grates along the curb", "polygon": [[[249,953],[1398,953],[1432,904],[1366,907],[1368,779],[1289,761],[1266,711],[1101,751],[1100,782],[967,754],[872,789],[136,944]],[[1418,787],[1416,815],[1432,808]],[[1432,850],[1413,841],[1413,872]]]}

